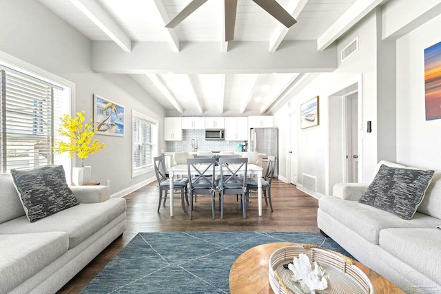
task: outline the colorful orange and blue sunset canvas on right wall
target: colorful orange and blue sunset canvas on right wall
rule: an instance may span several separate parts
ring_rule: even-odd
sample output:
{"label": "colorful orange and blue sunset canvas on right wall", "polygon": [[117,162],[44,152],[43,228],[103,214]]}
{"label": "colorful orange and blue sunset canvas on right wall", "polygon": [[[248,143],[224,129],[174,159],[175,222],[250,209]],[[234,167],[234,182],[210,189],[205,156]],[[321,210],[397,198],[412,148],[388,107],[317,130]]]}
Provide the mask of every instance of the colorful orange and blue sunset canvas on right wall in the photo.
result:
{"label": "colorful orange and blue sunset canvas on right wall", "polygon": [[426,120],[441,118],[441,42],[424,50]]}

